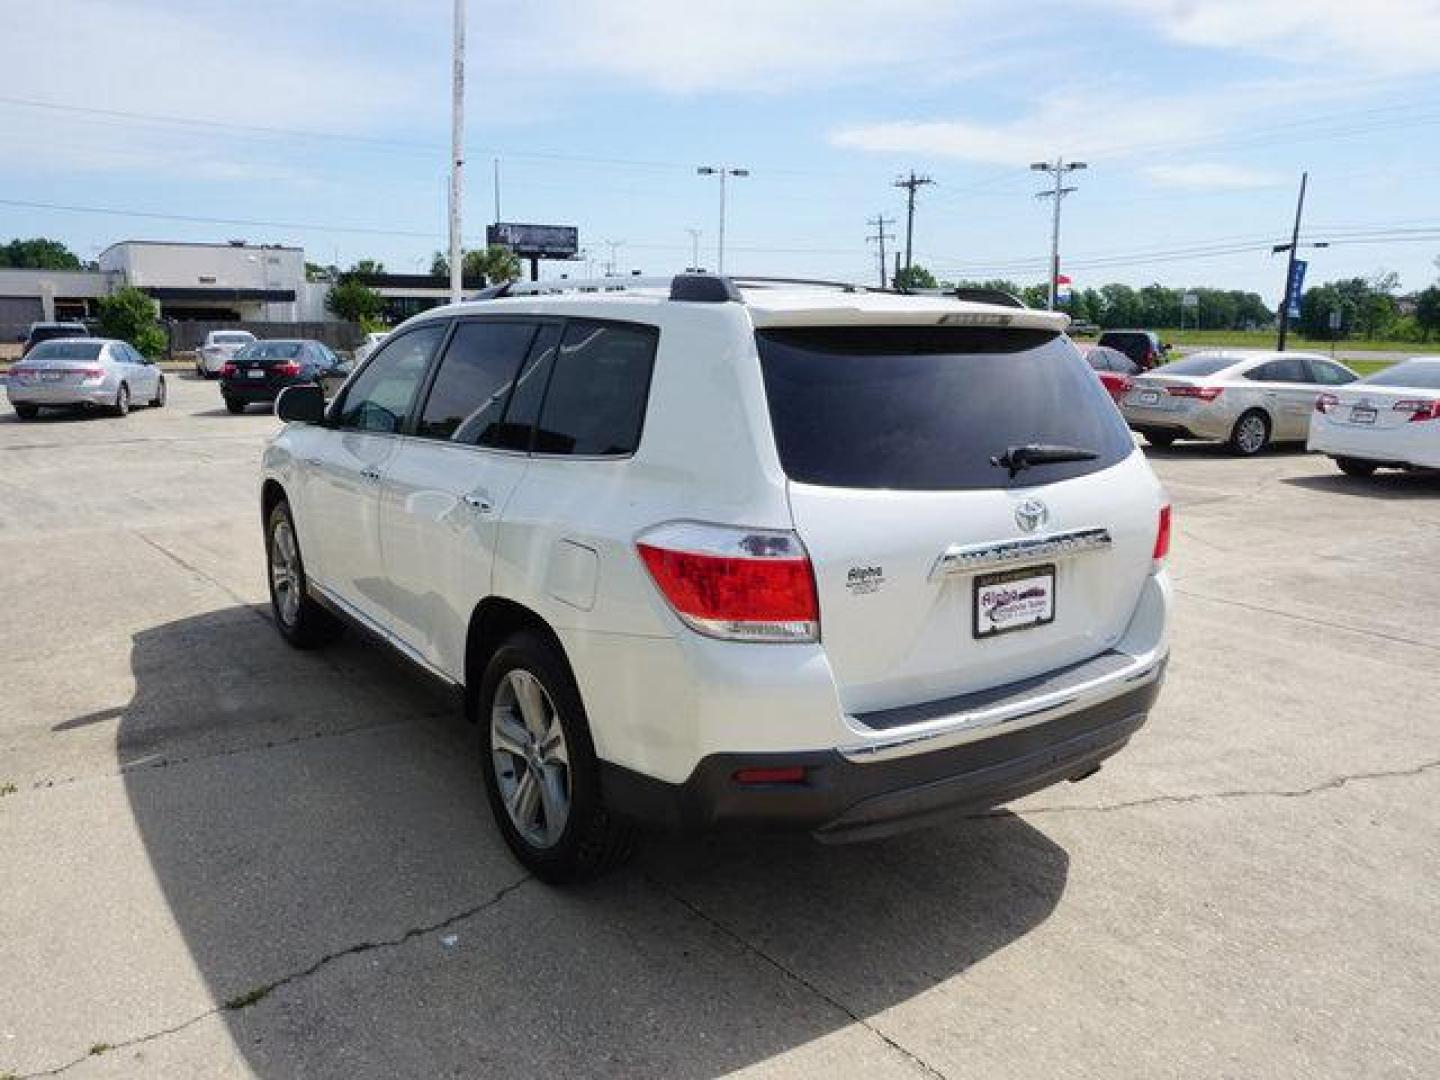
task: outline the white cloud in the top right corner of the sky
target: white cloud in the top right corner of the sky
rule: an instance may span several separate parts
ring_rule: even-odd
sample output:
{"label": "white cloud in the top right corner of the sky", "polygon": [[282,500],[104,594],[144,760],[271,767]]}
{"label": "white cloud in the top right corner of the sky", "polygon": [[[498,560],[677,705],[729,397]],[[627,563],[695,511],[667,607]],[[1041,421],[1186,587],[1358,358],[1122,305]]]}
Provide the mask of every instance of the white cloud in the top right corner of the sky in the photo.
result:
{"label": "white cloud in the top right corner of the sky", "polygon": [[1086,0],[1184,45],[1332,62],[1385,75],[1440,71],[1436,0]]}

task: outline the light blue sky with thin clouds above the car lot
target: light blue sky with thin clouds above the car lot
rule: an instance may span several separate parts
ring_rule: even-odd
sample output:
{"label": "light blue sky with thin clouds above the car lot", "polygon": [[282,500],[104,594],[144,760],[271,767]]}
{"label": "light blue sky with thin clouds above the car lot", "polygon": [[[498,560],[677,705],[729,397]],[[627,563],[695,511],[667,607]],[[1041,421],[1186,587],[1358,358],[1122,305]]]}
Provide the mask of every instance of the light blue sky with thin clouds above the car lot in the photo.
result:
{"label": "light blue sky with thin clouds above the car lot", "polygon": [[[891,180],[916,168],[937,181],[917,262],[1040,281],[1027,164],[1064,154],[1090,166],[1064,207],[1079,287],[1273,302],[1266,245],[1305,168],[1306,233],[1332,242],[1312,282],[1440,275],[1440,0],[471,0],[468,19],[475,243],[498,157],[504,219],[577,225],[596,266],[616,240],[624,269],[677,269],[687,229],[713,265],[694,166],[730,163],[752,171],[732,271],[870,281],[865,219],[903,230]],[[0,238],[89,258],[243,236],[395,271],[445,243],[448,0],[0,0]]]}

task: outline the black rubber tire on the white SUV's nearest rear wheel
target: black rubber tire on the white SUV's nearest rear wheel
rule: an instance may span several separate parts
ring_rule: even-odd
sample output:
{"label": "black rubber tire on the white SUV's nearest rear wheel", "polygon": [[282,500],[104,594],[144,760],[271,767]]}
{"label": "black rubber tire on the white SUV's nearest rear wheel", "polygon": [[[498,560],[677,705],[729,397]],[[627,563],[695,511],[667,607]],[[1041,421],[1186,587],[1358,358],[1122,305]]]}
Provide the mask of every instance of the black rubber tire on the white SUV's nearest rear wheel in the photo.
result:
{"label": "black rubber tire on the white SUV's nearest rear wheel", "polygon": [[[549,841],[537,841],[521,832],[505,802],[504,788],[518,792],[526,773],[524,768],[517,768],[523,759],[497,749],[494,739],[497,700],[501,716],[508,713],[511,719],[518,719],[516,711],[518,706],[505,704],[513,677],[533,678],[539,684],[547,701],[549,723],[557,723],[563,734],[560,749],[566,759],[564,785],[569,806],[563,828]],[[490,808],[505,844],[521,865],[541,881],[567,884],[598,877],[634,852],[635,828],[605,806],[600,795],[600,769],[595,757],[585,704],[580,701],[580,691],[575,685],[569,664],[552,642],[528,631],[507,638],[485,667],[475,714],[480,720],[481,773],[485,778]],[[524,720],[520,720],[520,724],[521,732],[531,727]],[[536,740],[534,746],[539,747],[540,740]],[[504,759],[505,763],[497,759]],[[531,769],[530,783],[537,792],[541,782],[536,776],[541,775],[543,768],[541,763]],[[550,804],[541,795],[536,795],[533,805],[546,819],[544,828],[549,829]]]}

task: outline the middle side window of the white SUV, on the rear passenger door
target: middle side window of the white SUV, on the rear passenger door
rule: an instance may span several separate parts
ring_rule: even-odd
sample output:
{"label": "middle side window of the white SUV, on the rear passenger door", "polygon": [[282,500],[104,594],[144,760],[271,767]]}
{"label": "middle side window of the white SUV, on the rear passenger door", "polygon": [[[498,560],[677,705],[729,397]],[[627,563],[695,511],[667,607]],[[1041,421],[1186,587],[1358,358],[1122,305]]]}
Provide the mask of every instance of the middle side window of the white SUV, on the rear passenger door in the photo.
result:
{"label": "middle side window of the white SUV, on the rear passenger door", "polygon": [[461,323],[431,386],[418,435],[481,442],[500,426],[533,323]]}

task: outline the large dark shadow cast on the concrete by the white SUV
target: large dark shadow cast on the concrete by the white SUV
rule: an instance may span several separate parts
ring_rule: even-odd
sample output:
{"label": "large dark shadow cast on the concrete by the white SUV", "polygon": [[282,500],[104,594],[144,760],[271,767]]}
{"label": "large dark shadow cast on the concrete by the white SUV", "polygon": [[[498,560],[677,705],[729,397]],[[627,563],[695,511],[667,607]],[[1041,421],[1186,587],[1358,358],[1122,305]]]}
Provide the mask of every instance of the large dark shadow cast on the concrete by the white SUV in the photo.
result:
{"label": "large dark shadow cast on the concrete by the white SUV", "polygon": [[1066,887],[1066,852],[995,814],[657,840],[556,890],[504,850],[474,729],[377,647],[300,654],[236,606],[137,634],[131,667],[134,822],[262,1077],[720,1076],[962,975]]}

